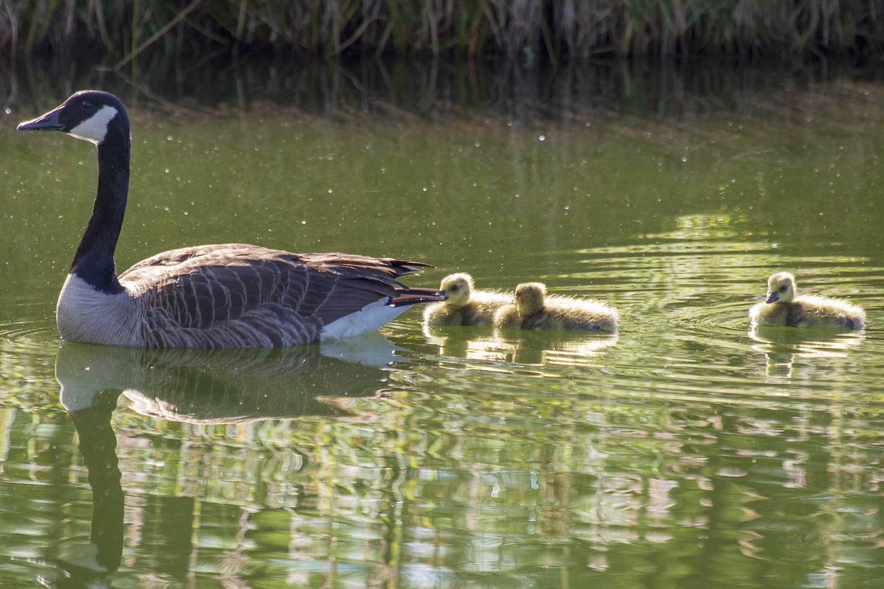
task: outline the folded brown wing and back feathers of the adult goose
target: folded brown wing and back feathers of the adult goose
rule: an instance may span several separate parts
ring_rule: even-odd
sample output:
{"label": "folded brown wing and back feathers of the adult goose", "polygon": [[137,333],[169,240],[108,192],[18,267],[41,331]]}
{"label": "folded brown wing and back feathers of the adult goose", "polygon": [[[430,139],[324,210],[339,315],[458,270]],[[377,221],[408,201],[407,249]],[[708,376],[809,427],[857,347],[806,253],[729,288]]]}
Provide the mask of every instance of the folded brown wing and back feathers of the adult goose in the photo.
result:
{"label": "folded brown wing and back feathers of the adult goose", "polygon": [[408,292],[397,279],[424,265],[231,244],[164,252],[119,279],[149,299],[145,328],[156,345],[263,347],[316,341],[324,325]]}

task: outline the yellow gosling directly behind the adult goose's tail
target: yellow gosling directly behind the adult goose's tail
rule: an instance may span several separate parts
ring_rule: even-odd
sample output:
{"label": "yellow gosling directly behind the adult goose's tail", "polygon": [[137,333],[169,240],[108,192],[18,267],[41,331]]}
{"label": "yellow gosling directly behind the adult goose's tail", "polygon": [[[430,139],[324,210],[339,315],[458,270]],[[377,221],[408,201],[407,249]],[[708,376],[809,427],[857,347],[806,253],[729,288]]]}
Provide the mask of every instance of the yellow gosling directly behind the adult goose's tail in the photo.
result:
{"label": "yellow gosling directly behind the adult goose's tail", "polygon": [[490,290],[476,290],[473,277],[463,272],[446,276],[439,290],[448,298],[423,311],[427,325],[491,325],[494,313],[513,298]]}

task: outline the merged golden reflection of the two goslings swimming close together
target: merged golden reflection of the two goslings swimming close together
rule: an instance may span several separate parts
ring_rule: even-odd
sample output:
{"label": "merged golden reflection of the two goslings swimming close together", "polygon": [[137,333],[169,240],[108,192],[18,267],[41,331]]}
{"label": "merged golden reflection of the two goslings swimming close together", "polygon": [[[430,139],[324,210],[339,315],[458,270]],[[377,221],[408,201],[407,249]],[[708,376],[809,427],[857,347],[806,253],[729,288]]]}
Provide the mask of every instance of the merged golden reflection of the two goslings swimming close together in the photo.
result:
{"label": "merged golden reflection of the two goslings swimming close together", "polygon": [[535,365],[591,363],[613,347],[618,337],[617,333],[554,331],[504,334],[491,327],[465,332],[442,325],[423,325],[423,334],[441,356]]}

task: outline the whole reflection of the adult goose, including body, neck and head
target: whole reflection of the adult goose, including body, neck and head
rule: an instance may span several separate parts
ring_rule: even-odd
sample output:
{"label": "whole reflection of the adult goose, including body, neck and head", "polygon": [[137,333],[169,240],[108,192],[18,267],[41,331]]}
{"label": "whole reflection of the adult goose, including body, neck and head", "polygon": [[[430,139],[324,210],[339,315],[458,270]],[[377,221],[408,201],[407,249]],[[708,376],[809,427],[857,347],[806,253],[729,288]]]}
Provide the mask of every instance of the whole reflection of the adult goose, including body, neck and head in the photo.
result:
{"label": "whole reflection of the adult goose, including body, neck and head", "polygon": [[331,416],[343,412],[335,398],[376,394],[395,353],[380,333],[328,346],[232,350],[62,343],[56,378],[88,470],[92,528],[88,542],[61,542],[35,560],[50,567],[38,580],[48,587],[108,587],[120,566],[125,497],[110,424],[121,394],[144,415],[191,423]]}

